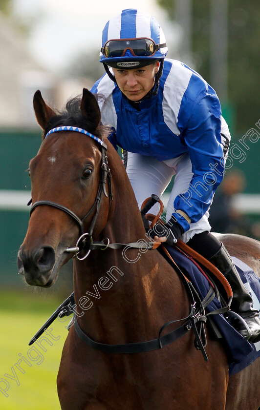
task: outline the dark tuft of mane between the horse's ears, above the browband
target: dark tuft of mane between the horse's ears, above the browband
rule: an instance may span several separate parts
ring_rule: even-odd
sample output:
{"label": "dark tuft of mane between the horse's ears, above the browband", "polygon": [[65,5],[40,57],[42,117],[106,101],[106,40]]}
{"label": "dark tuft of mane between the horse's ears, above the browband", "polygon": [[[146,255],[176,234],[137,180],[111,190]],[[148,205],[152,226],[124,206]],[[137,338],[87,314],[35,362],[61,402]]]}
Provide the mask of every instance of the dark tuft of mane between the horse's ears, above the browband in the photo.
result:
{"label": "dark tuft of mane between the horse's ears, above the browband", "polygon": [[[96,97],[96,96],[95,96]],[[101,123],[98,127],[94,127],[91,122],[91,112],[89,112],[89,118],[85,117],[80,109],[80,104],[82,101],[82,95],[78,95],[71,98],[66,102],[65,108],[62,111],[55,109],[56,115],[51,117],[45,129],[43,130],[43,139],[48,131],[52,128],[67,125],[67,126],[77,126],[83,128],[96,135],[100,139],[107,138],[111,132],[111,128]]]}

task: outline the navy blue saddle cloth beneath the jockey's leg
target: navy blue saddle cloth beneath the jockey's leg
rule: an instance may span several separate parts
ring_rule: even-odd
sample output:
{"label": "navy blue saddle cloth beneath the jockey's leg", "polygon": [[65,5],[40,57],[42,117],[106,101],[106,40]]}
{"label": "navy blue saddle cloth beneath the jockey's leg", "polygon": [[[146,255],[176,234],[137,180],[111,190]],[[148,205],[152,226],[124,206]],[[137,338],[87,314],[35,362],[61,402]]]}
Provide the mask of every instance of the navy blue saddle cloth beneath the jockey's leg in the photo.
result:
{"label": "navy blue saddle cloth beneath the jockey's leg", "polygon": [[[187,258],[176,247],[166,247],[176,264],[181,269],[185,270],[185,275],[192,282],[196,291],[200,295],[200,298],[203,299],[210,289],[207,279],[202,275],[192,260]],[[232,259],[238,269],[242,282],[251,293],[254,301],[254,308],[260,310],[260,278],[242,261],[235,257],[232,257]],[[206,310],[210,312],[218,308],[221,308],[221,305],[215,297]],[[257,359],[257,357],[260,356],[260,342],[255,344],[249,343],[226,321],[222,314],[212,315],[211,318],[214,320],[217,328],[222,334],[222,338],[219,340],[220,343],[223,343],[227,354],[230,375],[238,373],[238,371],[249,366],[254,360]]]}

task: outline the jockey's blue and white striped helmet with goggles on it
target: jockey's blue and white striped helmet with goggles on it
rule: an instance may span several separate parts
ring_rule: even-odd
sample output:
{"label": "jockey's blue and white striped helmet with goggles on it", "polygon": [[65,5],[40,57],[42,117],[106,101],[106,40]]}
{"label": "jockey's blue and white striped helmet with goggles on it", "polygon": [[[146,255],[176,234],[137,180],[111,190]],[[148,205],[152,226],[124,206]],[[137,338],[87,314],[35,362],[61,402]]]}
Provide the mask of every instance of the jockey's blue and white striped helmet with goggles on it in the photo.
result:
{"label": "jockey's blue and white striped helmet with goggles on it", "polygon": [[135,68],[162,60],[167,52],[159,23],[149,14],[126,9],[105,25],[100,62],[117,68]]}

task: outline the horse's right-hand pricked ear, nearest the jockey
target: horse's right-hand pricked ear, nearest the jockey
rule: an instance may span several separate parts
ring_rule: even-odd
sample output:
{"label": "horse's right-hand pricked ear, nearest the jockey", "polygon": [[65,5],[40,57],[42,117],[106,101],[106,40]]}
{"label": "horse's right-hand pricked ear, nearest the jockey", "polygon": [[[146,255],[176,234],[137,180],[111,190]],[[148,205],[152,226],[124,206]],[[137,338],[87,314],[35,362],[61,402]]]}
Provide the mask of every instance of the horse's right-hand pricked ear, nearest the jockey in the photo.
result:
{"label": "horse's right-hand pricked ear, nearest the jockey", "polygon": [[95,130],[101,121],[101,113],[97,100],[87,88],[83,88],[80,109],[82,115],[91,123],[93,130]]}

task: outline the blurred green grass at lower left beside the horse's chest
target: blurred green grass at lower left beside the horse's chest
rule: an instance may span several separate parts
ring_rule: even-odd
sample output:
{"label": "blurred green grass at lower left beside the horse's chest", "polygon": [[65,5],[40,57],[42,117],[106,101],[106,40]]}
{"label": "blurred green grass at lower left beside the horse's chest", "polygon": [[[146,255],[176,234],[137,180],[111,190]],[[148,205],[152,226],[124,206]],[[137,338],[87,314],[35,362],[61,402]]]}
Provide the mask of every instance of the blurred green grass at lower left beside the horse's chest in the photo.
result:
{"label": "blurred green grass at lower left beside the horse's chest", "polygon": [[[65,297],[63,298],[61,293],[49,293],[48,289],[45,292],[45,289],[42,291],[29,287],[0,291],[0,379],[3,378],[10,384],[9,390],[6,391],[8,397],[0,391],[1,410],[58,410],[61,408],[57,395],[56,377],[68,333],[65,326],[69,318],[66,318],[65,323],[56,319],[50,326],[53,328],[52,334],[60,338],[55,341],[48,336],[53,345],[44,344],[46,352],[39,349],[44,357],[41,364],[37,365],[37,362],[29,360],[27,352],[30,349],[28,346],[30,339]],[[35,347],[37,348],[37,345]],[[29,367],[26,363],[21,363],[21,368],[25,370],[24,374],[15,367],[15,363],[18,363],[20,359],[19,353],[22,353],[32,364],[32,367]],[[4,373],[13,375],[12,367],[16,369],[20,386],[15,380],[4,376]],[[5,387],[3,382],[0,382],[0,387]]]}

